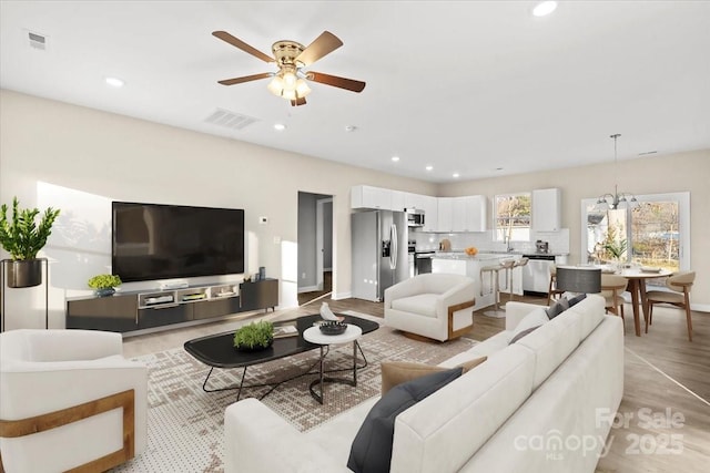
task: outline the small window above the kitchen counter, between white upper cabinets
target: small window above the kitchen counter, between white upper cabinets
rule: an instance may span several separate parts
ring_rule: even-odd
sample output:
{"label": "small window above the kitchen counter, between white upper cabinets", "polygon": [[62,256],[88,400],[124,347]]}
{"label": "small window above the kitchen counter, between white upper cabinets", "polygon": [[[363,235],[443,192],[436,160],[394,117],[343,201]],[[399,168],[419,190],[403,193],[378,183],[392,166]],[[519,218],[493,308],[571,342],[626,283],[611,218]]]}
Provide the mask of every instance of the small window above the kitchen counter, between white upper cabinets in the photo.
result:
{"label": "small window above the kitchen counter, between white upper cabinets", "polygon": [[497,241],[529,241],[530,193],[497,195],[494,199],[494,225]]}

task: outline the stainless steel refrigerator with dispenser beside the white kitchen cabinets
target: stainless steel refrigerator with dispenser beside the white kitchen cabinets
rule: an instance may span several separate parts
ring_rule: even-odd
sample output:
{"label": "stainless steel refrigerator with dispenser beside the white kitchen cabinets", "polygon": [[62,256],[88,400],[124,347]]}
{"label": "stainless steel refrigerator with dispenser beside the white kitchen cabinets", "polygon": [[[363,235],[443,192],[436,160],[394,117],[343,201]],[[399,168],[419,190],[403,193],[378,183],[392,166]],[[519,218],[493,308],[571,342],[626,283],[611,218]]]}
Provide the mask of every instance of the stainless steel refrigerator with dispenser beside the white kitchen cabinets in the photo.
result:
{"label": "stainless steel refrigerator with dispenser beside the white kitchen cabinets", "polygon": [[353,297],[379,302],[385,289],[409,277],[407,232],[404,212],[351,215]]}

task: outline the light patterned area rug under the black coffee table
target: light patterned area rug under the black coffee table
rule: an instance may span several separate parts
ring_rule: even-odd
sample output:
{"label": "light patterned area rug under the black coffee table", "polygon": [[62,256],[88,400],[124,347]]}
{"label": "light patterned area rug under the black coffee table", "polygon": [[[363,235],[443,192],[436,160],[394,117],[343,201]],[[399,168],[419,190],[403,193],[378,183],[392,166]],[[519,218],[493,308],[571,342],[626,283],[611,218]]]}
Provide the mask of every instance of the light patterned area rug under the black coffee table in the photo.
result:
{"label": "light patterned area rug under the black coffee table", "polygon": [[[357,387],[326,384],[326,403],[318,404],[308,393],[313,374],[284,382],[263,402],[300,431],[312,429],[327,419],[379,394],[379,363],[389,360],[437,364],[476,342],[458,339],[446,343],[423,342],[405,338],[384,326],[384,320],[356,312],[349,315],[376,320],[381,328],[363,336],[359,345],[368,366],[357,371]],[[352,345],[331,347],[326,369],[352,367]],[[359,357],[359,353],[358,353]],[[113,472],[222,472],[224,449],[224,410],[235,402],[237,391],[204,392],[202,383],[210,368],[182,348],[135,358],[149,367],[148,448],[146,451]],[[305,372],[318,359],[318,350],[250,367],[245,384],[277,382]],[[362,360],[361,360],[362,362]],[[241,369],[215,369],[211,388],[237,384]],[[348,378],[352,371],[333,373]],[[244,389],[242,399],[260,398],[270,388]]]}

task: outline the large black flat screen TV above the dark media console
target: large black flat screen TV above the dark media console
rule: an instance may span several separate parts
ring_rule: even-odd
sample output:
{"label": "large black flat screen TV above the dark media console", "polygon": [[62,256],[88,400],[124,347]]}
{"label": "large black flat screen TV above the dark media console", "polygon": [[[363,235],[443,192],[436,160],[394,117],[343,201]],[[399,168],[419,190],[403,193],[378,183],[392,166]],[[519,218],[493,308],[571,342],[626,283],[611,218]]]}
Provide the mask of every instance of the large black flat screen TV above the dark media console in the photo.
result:
{"label": "large black flat screen TV above the dark media console", "polygon": [[125,282],[244,273],[244,210],[112,203],[111,265]]}

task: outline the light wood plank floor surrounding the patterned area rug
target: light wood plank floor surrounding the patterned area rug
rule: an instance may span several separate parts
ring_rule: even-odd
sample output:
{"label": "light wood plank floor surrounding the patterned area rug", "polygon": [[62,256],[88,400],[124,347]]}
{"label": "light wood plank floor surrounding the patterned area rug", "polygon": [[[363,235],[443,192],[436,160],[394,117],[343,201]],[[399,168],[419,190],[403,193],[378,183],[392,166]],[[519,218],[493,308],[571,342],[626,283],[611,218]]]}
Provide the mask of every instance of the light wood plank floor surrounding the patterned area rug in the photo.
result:
{"label": "light wood plank floor surrounding the patterned area rug", "polygon": [[[325,300],[332,310],[355,310],[384,316],[383,305],[359,299],[316,299],[305,306],[268,312],[287,319],[317,312]],[[545,305],[545,298],[521,297]],[[626,313],[631,307],[626,306]],[[179,348],[195,337],[233,330],[258,315],[168,332],[126,338],[124,354],[136,357]],[[710,315],[693,312],[693,341],[688,341],[684,315],[674,308],[653,310],[653,325],[641,337],[633,335],[632,317],[626,319],[625,394],[617,424],[607,439],[608,453],[599,460],[599,473],[704,472],[710,462]],[[477,312],[465,336],[485,340],[505,328],[505,319]],[[623,421],[623,419],[627,419]]]}

